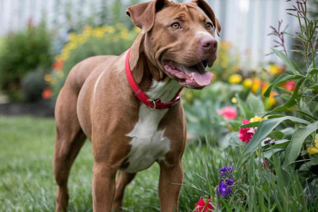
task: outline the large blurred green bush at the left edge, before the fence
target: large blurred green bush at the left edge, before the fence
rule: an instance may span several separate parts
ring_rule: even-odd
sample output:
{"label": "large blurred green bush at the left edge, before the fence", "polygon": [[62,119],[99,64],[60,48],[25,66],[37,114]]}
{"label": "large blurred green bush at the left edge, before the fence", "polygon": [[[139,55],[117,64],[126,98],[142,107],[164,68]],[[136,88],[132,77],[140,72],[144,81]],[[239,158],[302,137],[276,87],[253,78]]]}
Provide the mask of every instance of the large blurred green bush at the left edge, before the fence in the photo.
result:
{"label": "large blurred green bush at the left edge, before the fence", "polygon": [[0,89],[11,99],[20,99],[21,79],[30,71],[51,67],[51,36],[45,22],[35,27],[31,23],[24,31],[3,38],[0,51]]}

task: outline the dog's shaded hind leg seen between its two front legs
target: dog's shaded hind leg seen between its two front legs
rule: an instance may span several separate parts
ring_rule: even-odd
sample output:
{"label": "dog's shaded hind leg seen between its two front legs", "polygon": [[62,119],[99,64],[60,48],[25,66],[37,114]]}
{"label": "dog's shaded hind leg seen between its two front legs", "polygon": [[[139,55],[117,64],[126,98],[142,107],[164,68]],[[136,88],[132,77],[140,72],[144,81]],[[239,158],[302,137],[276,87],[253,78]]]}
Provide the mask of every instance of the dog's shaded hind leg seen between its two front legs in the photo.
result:
{"label": "dog's shaded hind leg seen between its two front legs", "polygon": [[114,211],[121,211],[120,207],[122,206],[125,188],[135,178],[135,176],[136,173],[126,173],[123,171],[119,171],[118,178],[116,181],[116,193],[112,206],[112,209]]}

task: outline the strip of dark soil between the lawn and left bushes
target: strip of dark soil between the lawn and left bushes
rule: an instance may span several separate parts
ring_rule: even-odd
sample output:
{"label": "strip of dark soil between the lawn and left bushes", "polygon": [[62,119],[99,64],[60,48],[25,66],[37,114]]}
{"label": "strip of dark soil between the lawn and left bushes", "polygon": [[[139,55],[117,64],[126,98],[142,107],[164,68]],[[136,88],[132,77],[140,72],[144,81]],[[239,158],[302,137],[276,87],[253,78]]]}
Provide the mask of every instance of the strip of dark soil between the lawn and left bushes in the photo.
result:
{"label": "strip of dark soil between the lawn and left bushes", "polygon": [[54,117],[54,102],[41,100],[32,103],[0,104],[0,115],[31,115]]}

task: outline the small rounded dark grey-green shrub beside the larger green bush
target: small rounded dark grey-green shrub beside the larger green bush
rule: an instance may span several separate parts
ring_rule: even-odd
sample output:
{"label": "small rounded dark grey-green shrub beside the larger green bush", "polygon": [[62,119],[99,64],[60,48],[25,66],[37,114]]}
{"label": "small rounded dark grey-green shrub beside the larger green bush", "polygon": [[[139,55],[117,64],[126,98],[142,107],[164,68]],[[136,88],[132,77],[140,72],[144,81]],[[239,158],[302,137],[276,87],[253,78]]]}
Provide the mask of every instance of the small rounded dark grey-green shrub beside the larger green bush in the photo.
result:
{"label": "small rounded dark grey-green shrub beside the larger green bush", "polygon": [[21,88],[26,101],[37,101],[45,88],[44,74],[41,71],[27,73],[22,79]]}

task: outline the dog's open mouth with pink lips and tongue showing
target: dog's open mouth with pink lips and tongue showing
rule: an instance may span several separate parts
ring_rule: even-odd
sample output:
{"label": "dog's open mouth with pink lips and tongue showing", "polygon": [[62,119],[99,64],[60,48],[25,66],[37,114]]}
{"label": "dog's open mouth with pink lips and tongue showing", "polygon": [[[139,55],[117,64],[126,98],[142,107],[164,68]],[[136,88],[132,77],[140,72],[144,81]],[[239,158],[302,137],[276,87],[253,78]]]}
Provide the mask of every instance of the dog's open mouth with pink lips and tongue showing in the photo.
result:
{"label": "dog's open mouth with pink lips and tongue showing", "polygon": [[207,60],[203,60],[192,66],[181,65],[171,60],[165,60],[162,65],[166,72],[176,77],[180,85],[184,87],[202,89],[210,85],[213,79],[213,74],[205,71],[205,67],[208,65]]}

